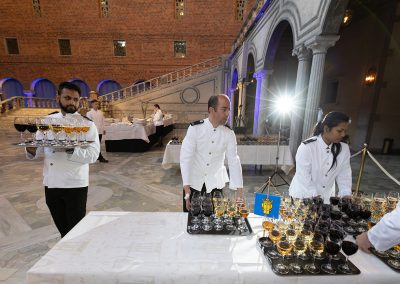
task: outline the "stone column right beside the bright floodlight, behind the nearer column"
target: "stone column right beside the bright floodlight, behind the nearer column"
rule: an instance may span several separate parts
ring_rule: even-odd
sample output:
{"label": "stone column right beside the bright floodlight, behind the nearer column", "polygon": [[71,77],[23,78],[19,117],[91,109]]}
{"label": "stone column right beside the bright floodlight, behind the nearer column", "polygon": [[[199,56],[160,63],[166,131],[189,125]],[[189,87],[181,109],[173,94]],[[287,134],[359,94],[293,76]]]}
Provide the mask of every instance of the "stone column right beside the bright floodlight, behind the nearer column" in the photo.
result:
{"label": "stone column right beside the bright floodlight, behind the nearer column", "polygon": [[304,106],[307,96],[308,80],[310,78],[311,52],[303,44],[292,52],[297,56],[297,78],[294,91],[295,107],[291,113],[289,147],[293,157],[296,156],[297,147],[301,143],[304,120]]}

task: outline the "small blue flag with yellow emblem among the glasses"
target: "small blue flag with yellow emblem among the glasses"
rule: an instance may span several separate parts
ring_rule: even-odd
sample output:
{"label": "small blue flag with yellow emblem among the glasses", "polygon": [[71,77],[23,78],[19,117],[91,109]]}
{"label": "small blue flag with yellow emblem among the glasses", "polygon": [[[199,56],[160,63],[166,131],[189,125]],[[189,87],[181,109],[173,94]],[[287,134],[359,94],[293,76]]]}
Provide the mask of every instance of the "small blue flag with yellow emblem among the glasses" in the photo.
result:
{"label": "small blue flag with yellow emblem among the glasses", "polygon": [[254,200],[254,214],[278,219],[280,205],[280,196],[258,192]]}

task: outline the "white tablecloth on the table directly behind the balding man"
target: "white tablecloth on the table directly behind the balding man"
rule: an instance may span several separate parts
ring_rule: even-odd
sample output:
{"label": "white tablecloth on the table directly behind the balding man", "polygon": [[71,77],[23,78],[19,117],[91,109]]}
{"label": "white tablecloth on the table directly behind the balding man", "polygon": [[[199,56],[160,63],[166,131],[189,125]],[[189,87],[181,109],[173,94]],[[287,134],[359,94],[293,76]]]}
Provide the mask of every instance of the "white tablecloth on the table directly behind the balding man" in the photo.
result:
{"label": "white tablecloth on the table directly behind the balding man", "polygon": [[[167,169],[172,164],[179,164],[181,145],[167,144],[162,167]],[[275,165],[277,146],[275,145],[238,145],[237,152],[242,165]],[[289,146],[279,147],[279,167],[288,174],[293,168],[293,157]]]}

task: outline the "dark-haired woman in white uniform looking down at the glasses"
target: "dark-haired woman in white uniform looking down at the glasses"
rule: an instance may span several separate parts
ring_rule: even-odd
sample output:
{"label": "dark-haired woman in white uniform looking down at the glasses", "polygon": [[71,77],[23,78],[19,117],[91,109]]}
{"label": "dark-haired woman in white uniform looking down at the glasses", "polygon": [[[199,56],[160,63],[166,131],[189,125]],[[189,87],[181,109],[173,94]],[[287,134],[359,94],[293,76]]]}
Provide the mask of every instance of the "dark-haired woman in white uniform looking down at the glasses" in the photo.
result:
{"label": "dark-haired woman in white uniform looking down at the glasses", "polygon": [[290,196],[321,196],[329,203],[335,195],[335,182],[338,196],[351,196],[350,149],[341,142],[348,125],[349,117],[342,112],[330,112],[317,123],[313,137],[303,141],[297,150]]}

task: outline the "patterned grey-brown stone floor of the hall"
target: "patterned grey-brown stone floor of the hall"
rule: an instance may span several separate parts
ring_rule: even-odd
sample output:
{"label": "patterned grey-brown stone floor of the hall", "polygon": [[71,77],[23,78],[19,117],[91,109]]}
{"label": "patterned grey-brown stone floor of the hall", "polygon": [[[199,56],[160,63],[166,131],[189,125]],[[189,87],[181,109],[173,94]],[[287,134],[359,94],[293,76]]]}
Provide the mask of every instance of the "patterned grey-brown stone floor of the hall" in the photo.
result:
{"label": "patterned grey-brown stone floor of the hall", "polygon": [[[27,161],[23,149],[10,146],[17,140],[14,131],[3,131],[0,137],[0,283],[23,283],[27,270],[60,238],[44,203],[42,161]],[[110,160],[108,164],[96,163],[90,168],[88,211],[181,210],[179,168],[161,168],[162,148],[105,156]],[[395,178],[400,178],[400,156],[376,158]],[[360,156],[352,159],[354,184],[359,163]],[[245,191],[249,195],[257,191],[272,172],[273,168],[259,172],[253,166],[245,166]],[[291,175],[285,179],[290,181]],[[400,191],[370,159],[361,189]],[[287,186],[279,190],[287,190]]]}

